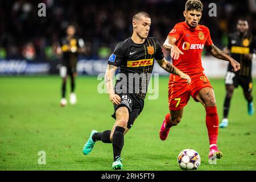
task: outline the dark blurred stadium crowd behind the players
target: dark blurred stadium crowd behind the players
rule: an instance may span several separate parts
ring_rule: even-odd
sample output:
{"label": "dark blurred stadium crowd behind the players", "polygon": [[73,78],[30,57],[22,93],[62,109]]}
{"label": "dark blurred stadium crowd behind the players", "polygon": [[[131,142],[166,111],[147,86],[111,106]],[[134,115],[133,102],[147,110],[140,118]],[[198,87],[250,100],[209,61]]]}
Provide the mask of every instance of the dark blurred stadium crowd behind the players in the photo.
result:
{"label": "dark blurred stadium crowd behind the players", "polygon": [[[200,24],[209,27],[213,42],[221,48],[227,44],[228,33],[236,28],[238,17],[246,18],[256,34],[253,1],[202,1],[205,15]],[[46,17],[38,16],[42,2]],[[209,3],[216,3],[217,16],[208,15]],[[150,36],[162,44],[175,23],[184,20],[184,4],[185,0],[0,1],[0,59],[57,60],[55,48],[71,22],[77,24],[78,35],[89,47],[84,56],[106,59],[118,42],[131,35],[131,18],[137,11],[150,14]]]}

